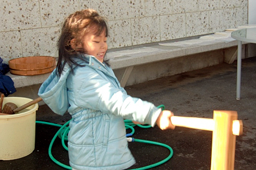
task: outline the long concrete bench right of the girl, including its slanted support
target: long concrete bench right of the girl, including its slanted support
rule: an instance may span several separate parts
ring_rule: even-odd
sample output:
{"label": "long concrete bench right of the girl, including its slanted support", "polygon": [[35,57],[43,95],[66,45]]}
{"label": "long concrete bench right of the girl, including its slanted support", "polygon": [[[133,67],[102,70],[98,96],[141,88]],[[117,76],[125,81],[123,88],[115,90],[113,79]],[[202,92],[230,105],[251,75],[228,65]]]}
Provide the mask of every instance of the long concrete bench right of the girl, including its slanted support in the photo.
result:
{"label": "long concrete bench right of the girl, including its slanted support", "polygon": [[[196,39],[158,43],[158,45],[109,52],[107,59],[109,59],[112,69],[125,68],[120,81],[121,86],[125,87],[134,66],[227,49],[234,46],[237,46],[237,41],[231,38],[231,31],[225,31]],[[232,56],[234,56],[232,53],[225,55],[228,58],[225,61],[234,59]]]}

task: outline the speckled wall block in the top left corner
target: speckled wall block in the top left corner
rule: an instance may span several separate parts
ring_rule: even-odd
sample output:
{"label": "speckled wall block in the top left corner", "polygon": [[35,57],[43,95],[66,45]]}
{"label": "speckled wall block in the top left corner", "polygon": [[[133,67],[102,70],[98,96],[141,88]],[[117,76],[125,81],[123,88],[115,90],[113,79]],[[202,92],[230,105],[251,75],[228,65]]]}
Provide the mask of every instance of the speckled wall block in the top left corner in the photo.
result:
{"label": "speckled wall block in the top left corner", "polygon": [[0,0],[0,4],[0,32],[41,26],[38,2]]}

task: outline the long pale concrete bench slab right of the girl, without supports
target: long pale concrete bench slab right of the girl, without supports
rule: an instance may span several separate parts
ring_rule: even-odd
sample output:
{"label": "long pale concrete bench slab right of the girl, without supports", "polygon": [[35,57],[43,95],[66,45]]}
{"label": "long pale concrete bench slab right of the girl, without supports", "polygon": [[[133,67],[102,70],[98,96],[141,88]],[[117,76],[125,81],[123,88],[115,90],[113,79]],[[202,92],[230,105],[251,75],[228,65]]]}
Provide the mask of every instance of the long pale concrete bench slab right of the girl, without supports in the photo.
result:
{"label": "long pale concrete bench slab right of the girl, without supports", "polygon": [[[189,40],[188,40],[189,41]],[[184,43],[184,45],[187,45]],[[161,60],[174,59],[180,56],[194,55],[217,49],[225,49],[237,46],[237,42],[224,42],[221,40],[205,41],[202,45],[191,44],[184,47],[177,46],[176,43],[165,43],[149,47],[142,47],[132,50],[122,50],[107,53],[107,58],[112,69],[120,69],[139,64],[152,63]]]}

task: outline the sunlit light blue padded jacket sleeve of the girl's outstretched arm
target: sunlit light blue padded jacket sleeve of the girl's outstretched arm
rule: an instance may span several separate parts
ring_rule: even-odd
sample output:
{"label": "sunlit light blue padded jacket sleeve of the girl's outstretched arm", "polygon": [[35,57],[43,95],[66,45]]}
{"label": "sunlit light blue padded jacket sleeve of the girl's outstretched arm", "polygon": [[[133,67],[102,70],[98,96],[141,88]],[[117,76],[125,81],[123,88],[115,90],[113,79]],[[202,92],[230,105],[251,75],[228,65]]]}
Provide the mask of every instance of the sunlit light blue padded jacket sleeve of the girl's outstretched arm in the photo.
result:
{"label": "sunlit light blue padded jacket sleeve of the girl's outstretched arm", "polygon": [[84,74],[78,73],[74,78],[74,82],[77,82],[74,96],[78,107],[115,114],[152,127],[155,125],[161,109],[148,101],[127,95],[126,91],[98,73],[87,72],[86,78]]}

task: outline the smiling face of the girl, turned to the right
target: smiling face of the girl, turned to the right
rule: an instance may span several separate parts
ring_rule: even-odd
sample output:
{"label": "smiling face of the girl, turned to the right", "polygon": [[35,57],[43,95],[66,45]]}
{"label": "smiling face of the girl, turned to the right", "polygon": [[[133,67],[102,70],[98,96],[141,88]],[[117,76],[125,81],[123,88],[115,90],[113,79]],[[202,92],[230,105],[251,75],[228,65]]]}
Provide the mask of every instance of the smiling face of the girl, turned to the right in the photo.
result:
{"label": "smiling face of the girl, turned to the right", "polygon": [[90,31],[84,36],[82,42],[87,55],[95,56],[102,63],[108,50],[106,30],[104,29],[99,36]]}

